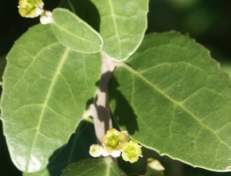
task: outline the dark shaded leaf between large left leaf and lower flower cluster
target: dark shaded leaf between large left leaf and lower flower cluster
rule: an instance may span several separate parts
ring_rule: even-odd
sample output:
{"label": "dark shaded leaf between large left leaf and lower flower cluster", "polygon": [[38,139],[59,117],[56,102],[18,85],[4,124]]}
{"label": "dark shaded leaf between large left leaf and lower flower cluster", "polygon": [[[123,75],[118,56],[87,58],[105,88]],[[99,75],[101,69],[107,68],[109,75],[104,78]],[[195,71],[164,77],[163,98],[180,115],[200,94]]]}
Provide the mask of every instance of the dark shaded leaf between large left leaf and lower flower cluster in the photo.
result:
{"label": "dark shaded leaf between large left leaf and lower flower cluster", "polygon": [[60,176],[61,171],[69,164],[89,158],[89,148],[96,142],[94,125],[82,121],[68,144],[52,155],[45,170],[38,173],[24,173],[24,176]]}

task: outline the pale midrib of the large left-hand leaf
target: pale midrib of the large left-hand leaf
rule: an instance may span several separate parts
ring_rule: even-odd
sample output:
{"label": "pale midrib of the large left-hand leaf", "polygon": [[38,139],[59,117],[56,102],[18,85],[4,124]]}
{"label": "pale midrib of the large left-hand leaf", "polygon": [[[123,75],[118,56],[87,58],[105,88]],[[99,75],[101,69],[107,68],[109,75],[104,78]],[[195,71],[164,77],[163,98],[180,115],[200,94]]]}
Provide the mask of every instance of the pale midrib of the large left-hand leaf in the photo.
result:
{"label": "pale midrib of the large left-hand leaf", "polygon": [[47,108],[47,105],[49,103],[49,100],[50,100],[50,97],[52,95],[52,92],[53,92],[53,89],[55,87],[55,84],[58,80],[58,76],[60,74],[60,71],[62,70],[63,68],[63,65],[65,64],[67,58],[68,58],[68,54],[69,54],[69,49],[68,48],[65,48],[64,50],[64,53],[57,65],[57,68],[55,70],[55,73],[54,73],[54,76],[53,78],[51,79],[51,83],[50,83],[50,86],[48,87],[48,91],[47,91],[47,94],[45,96],[45,99],[44,99],[44,103],[43,103],[43,106],[41,108],[41,112],[40,112],[40,115],[39,115],[39,118],[38,118],[38,123],[37,123],[37,127],[36,127],[36,132],[34,134],[34,137],[33,137],[33,141],[32,141],[32,145],[31,145],[31,148],[29,150],[29,160],[26,164],[26,170],[28,171],[29,169],[29,165],[30,165],[30,162],[31,162],[31,159],[32,159],[32,152],[33,152],[33,149],[34,149],[34,146],[37,142],[37,139],[38,139],[38,135],[40,133],[40,128],[41,128],[41,125],[42,125],[42,122],[43,122],[43,119],[44,119],[44,115],[45,115],[45,112],[46,112],[46,108]]}

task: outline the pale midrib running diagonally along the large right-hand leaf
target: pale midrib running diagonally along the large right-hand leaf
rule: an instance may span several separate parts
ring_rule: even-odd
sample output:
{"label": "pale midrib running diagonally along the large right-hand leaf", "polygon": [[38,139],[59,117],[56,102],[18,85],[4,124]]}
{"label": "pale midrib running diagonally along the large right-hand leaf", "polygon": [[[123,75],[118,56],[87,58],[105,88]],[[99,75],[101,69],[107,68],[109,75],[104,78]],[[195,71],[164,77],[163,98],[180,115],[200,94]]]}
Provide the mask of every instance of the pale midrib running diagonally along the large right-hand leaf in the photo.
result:
{"label": "pale midrib running diagonally along the large right-hand leaf", "polygon": [[223,144],[224,146],[226,146],[228,149],[231,149],[231,146],[229,146],[212,128],[210,128],[206,124],[203,124],[202,121],[199,120],[198,117],[192,111],[190,111],[187,107],[185,107],[182,102],[179,102],[179,101],[173,99],[172,97],[170,97],[163,90],[161,90],[161,88],[159,88],[154,83],[150,82],[142,74],[140,74],[139,72],[137,72],[136,70],[134,70],[131,66],[129,66],[129,65],[125,64],[125,63],[120,63],[119,66],[123,67],[127,71],[133,73],[139,79],[141,79],[144,83],[146,83],[147,85],[149,85],[150,87],[152,87],[153,89],[155,89],[158,93],[160,93],[162,96],[164,96],[166,99],[168,99],[170,102],[172,102],[173,104],[176,104],[178,107],[180,107],[182,110],[184,110],[187,114],[189,114],[201,127],[207,129],[208,131],[211,131],[211,133],[214,134],[214,136],[217,138],[217,140],[221,144]]}

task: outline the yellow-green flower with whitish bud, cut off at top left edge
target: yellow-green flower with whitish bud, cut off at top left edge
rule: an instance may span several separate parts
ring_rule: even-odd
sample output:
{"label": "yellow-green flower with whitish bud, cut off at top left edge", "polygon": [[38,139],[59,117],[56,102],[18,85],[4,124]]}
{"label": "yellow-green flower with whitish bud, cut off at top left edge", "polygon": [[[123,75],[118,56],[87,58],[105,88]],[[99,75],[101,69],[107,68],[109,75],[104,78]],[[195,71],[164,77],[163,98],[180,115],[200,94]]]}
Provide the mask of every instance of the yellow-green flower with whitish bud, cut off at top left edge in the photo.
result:
{"label": "yellow-green flower with whitish bud, cut off at top left edge", "polygon": [[19,0],[18,11],[22,17],[36,18],[40,16],[41,24],[52,22],[52,13],[44,10],[42,0]]}

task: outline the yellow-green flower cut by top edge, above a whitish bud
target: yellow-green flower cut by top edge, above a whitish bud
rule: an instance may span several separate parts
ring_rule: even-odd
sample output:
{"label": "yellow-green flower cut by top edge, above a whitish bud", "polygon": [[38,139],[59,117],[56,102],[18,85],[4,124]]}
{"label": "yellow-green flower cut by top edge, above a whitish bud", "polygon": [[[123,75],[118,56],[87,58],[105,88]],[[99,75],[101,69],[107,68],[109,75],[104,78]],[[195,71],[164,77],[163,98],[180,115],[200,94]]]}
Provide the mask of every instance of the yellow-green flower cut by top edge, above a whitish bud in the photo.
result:
{"label": "yellow-green flower cut by top edge, above a whitish bud", "polygon": [[26,18],[35,18],[43,13],[44,3],[42,0],[19,0],[19,14]]}

